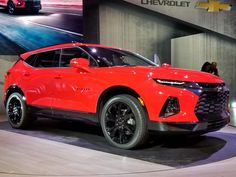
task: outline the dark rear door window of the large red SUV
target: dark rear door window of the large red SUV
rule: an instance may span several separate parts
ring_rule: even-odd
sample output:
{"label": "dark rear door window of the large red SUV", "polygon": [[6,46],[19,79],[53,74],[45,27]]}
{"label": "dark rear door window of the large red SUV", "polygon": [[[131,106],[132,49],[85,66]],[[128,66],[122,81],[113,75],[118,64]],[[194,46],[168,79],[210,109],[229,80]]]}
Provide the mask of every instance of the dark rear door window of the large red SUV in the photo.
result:
{"label": "dark rear door window of the large red SUV", "polygon": [[61,53],[61,50],[53,50],[53,51],[39,53],[36,56],[33,66],[36,68],[59,67],[60,53]]}

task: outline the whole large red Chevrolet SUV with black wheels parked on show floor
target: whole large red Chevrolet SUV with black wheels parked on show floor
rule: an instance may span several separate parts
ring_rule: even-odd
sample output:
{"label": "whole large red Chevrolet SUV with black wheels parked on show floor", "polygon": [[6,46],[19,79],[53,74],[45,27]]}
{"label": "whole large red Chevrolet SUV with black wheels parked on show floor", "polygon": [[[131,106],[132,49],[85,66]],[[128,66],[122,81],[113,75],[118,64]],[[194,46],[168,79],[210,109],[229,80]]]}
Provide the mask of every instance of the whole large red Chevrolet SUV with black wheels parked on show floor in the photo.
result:
{"label": "whole large red Chevrolet SUV with black wheels parked on show floor", "polygon": [[131,149],[148,132],[203,134],[230,120],[229,90],[212,74],[157,66],[141,55],[70,43],[34,50],[5,75],[13,128],[35,117],[99,123],[107,141]]}

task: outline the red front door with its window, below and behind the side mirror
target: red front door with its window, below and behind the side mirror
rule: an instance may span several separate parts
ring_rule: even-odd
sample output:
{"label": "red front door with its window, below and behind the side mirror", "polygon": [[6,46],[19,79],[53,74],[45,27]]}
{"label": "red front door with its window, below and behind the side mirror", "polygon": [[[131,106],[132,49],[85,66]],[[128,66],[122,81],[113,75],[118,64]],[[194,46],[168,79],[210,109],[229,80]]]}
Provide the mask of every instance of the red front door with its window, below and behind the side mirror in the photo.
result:
{"label": "red front door with its window, below and behind the side mirror", "polygon": [[95,96],[93,91],[95,73],[72,68],[70,60],[73,58],[89,60],[89,55],[76,47],[62,50],[60,68],[54,79],[55,95],[52,106],[54,110],[91,112],[90,104]]}

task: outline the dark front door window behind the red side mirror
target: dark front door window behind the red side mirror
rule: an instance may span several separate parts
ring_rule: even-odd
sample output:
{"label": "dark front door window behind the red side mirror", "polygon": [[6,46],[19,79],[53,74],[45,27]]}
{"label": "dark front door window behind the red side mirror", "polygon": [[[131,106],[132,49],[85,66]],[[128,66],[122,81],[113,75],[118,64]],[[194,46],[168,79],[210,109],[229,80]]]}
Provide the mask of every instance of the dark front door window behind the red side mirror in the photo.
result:
{"label": "dark front door window behind the red side mirror", "polygon": [[60,67],[70,67],[70,61],[73,58],[88,59],[90,61],[90,66],[96,66],[96,63],[94,63],[93,60],[90,60],[90,56],[85,51],[74,47],[62,49]]}

